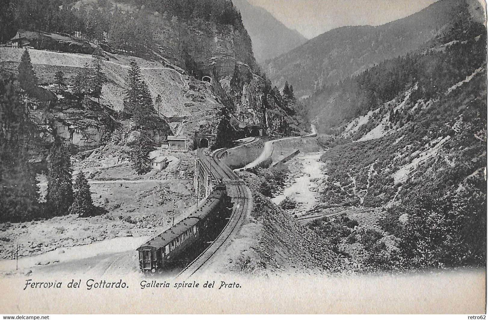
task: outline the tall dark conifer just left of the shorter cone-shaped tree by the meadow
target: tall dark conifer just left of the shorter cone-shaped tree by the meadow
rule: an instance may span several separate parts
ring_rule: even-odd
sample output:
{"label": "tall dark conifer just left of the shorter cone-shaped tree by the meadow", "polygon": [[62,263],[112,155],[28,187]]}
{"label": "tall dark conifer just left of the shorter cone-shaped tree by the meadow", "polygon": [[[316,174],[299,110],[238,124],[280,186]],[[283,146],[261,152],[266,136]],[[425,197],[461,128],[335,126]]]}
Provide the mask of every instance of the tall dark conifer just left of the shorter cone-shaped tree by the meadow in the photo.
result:
{"label": "tall dark conifer just left of the shorter cone-shaped tree by the meadow", "polygon": [[48,156],[46,202],[52,215],[65,215],[73,203],[71,162],[59,138],[54,140]]}

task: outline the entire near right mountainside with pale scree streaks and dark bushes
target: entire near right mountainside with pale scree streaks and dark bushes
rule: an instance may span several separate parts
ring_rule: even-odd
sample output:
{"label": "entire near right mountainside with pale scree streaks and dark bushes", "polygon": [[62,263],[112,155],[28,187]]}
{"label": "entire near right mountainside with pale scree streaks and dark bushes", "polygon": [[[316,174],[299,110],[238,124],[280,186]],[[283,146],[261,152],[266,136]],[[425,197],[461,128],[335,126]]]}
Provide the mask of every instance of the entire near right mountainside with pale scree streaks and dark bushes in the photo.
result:
{"label": "entire near right mountainside with pale scree streaks and dark bushes", "polygon": [[426,50],[310,98],[333,133],[321,205],[366,208],[339,242],[369,268],[486,264],[487,29],[461,9]]}

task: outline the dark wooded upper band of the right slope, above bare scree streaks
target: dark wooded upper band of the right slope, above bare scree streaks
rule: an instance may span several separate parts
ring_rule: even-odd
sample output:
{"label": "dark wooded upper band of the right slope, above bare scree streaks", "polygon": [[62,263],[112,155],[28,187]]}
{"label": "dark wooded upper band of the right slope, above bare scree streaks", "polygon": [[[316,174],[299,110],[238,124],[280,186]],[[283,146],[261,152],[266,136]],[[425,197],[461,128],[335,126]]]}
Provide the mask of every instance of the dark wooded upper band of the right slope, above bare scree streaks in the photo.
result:
{"label": "dark wooded upper band of the right slope, above bare scree streaks", "polygon": [[[470,1],[469,1],[470,2]],[[344,120],[363,115],[420,83],[417,92],[429,97],[441,87],[463,80],[485,61],[485,26],[465,0],[447,29],[406,56],[388,59],[357,76],[324,85],[306,100],[309,118],[328,132]]]}

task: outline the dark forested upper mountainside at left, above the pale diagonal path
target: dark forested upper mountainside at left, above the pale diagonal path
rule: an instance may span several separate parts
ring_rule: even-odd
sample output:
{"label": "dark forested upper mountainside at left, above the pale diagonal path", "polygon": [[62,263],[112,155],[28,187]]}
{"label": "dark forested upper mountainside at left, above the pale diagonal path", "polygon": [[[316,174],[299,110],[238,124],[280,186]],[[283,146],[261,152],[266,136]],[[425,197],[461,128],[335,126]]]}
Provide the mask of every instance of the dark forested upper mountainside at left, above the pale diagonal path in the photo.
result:
{"label": "dark forested upper mountainside at left, above the pale diagonal path", "polygon": [[22,29],[61,32],[106,43],[109,50],[164,58],[200,76],[214,66],[232,73],[229,59],[255,64],[251,41],[230,0],[11,0],[2,5],[2,25],[8,27],[0,32],[1,43]]}

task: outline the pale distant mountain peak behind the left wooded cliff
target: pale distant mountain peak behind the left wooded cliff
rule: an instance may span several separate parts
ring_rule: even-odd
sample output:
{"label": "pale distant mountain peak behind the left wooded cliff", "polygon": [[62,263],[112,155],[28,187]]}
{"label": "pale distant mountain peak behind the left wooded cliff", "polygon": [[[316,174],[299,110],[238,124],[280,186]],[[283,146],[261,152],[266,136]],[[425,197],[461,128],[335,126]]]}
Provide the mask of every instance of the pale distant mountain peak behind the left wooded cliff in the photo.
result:
{"label": "pale distant mountain peak behind the left wooded cliff", "polygon": [[273,59],[307,41],[296,30],[291,30],[275,19],[264,8],[246,0],[233,0],[239,9],[243,24],[251,38],[253,53],[259,63]]}

